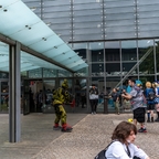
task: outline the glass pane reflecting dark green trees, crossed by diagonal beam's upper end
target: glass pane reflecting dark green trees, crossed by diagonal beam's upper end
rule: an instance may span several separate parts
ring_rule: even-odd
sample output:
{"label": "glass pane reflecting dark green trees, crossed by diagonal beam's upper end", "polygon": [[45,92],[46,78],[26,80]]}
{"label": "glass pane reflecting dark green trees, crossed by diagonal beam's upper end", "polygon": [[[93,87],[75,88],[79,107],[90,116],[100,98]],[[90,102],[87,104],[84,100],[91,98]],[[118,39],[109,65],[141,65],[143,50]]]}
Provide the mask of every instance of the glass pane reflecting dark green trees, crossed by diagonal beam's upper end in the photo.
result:
{"label": "glass pane reflecting dark green trees, crossed by diagonal beam's upper end", "polygon": [[153,74],[153,40],[138,41],[138,54],[140,60],[139,74]]}

